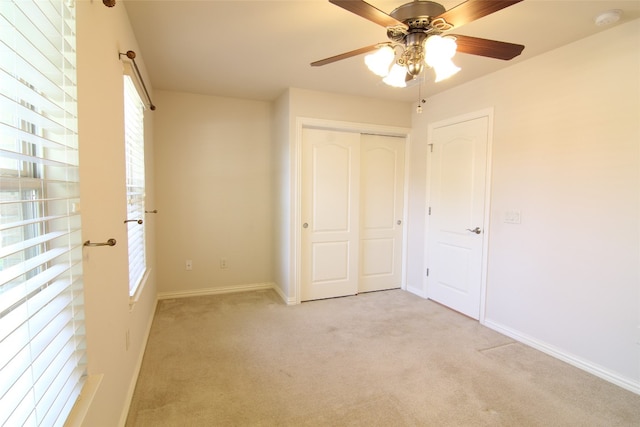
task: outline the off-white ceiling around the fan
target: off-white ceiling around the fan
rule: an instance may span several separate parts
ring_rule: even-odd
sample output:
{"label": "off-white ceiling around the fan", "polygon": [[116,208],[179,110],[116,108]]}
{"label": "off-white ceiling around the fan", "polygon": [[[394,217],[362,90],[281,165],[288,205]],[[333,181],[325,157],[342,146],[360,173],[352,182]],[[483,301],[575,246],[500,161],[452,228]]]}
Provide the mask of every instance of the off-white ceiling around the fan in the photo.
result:
{"label": "off-white ceiling around the fan", "polygon": [[[389,13],[408,0],[371,0]],[[442,0],[450,9],[461,0]],[[451,79],[390,88],[367,70],[363,56],[322,67],[310,62],[387,41],[386,30],[328,0],[118,0],[126,7],[151,86],[224,97],[273,100],[286,88],[320,90],[396,101],[427,98],[503,67],[610,27],[594,18],[622,9],[617,24],[640,17],[638,0],[524,0],[456,28],[452,33],[525,45],[501,61],[458,54]]]}

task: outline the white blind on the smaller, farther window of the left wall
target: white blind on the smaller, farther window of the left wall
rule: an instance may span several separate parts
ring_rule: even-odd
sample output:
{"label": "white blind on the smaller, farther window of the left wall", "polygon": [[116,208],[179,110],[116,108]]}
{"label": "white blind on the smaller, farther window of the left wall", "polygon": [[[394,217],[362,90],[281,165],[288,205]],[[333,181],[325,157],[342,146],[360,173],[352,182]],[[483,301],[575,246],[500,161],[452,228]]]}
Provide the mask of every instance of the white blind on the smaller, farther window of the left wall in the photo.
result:
{"label": "white blind on the smaller, farther window of the left wall", "polygon": [[[144,219],[144,104],[131,76],[124,76],[124,121],[127,164],[127,218]],[[133,296],[147,269],[145,224],[128,222],[129,295]]]}

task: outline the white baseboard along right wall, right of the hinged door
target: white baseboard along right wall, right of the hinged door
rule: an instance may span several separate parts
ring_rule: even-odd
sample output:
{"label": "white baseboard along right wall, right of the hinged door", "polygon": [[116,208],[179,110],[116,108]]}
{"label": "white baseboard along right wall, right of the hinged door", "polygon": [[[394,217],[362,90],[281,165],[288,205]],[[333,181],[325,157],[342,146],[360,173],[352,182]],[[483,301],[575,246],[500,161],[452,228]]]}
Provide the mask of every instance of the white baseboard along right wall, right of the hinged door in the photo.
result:
{"label": "white baseboard along right wall, right of the hinged door", "polygon": [[516,331],[504,325],[501,325],[500,323],[494,322],[492,320],[485,319],[482,324],[490,329],[493,329],[496,332],[500,332],[503,335],[513,338],[514,340],[519,341],[523,344],[526,344],[529,347],[533,347],[536,350],[540,350],[541,352],[548,354],[549,356],[555,357],[556,359],[560,359],[563,362],[566,362],[572,366],[575,366],[576,368],[582,369],[583,371],[589,372],[590,374],[593,374],[599,378],[602,378],[605,381],[613,383],[633,393],[640,394],[640,382],[638,381],[621,377],[620,375],[614,372],[611,372],[601,366],[598,366],[587,360],[583,360],[573,354],[567,353],[562,349],[549,345],[545,342],[537,340],[533,337],[530,337],[526,334],[523,334],[519,331]]}

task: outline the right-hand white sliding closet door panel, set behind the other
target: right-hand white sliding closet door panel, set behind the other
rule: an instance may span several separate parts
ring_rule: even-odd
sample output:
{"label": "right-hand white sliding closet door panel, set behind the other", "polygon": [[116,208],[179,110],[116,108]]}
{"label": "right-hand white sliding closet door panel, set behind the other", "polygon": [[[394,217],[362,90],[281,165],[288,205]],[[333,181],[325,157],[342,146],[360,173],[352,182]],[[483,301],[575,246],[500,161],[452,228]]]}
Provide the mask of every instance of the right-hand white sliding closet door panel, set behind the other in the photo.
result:
{"label": "right-hand white sliding closet door panel, set behind the other", "polygon": [[402,282],[404,138],[360,140],[359,292],[399,288]]}

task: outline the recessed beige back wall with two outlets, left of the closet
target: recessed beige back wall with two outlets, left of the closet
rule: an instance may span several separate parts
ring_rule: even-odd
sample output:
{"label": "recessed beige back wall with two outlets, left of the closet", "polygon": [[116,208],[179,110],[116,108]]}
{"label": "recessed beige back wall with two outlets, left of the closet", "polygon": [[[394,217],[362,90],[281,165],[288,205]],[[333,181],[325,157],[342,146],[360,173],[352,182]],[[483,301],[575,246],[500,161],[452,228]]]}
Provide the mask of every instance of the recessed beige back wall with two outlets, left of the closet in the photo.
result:
{"label": "recessed beige back wall with two outlets, left of the closet", "polygon": [[155,97],[159,296],[270,286],[272,104]]}

